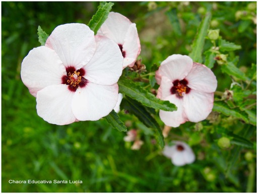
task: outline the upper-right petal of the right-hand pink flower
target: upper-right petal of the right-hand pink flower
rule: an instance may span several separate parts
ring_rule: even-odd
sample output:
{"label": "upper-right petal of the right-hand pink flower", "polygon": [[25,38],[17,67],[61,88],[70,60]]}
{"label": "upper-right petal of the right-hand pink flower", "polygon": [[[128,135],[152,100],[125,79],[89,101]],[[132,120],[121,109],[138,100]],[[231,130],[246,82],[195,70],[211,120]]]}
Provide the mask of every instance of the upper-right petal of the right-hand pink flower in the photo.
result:
{"label": "upper-right petal of the right-hand pink flower", "polygon": [[217,80],[214,73],[205,65],[193,63],[192,69],[186,76],[188,87],[191,89],[214,92],[217,88]]}

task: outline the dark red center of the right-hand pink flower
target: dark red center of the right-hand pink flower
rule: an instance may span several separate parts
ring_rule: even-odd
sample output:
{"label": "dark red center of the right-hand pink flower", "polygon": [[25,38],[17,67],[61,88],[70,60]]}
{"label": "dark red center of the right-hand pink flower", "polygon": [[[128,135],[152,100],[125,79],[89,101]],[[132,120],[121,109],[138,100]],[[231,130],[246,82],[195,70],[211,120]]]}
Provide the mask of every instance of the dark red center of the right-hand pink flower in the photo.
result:
{"label": "dark red center of the right-hand pink flower", "polygon": [[189,93],[191,88],[187,86],[188,81],[186,79],[173,81],[173,86],[170,89],[171,94],[176,94],[177,98],[183,98],[184,93]]}

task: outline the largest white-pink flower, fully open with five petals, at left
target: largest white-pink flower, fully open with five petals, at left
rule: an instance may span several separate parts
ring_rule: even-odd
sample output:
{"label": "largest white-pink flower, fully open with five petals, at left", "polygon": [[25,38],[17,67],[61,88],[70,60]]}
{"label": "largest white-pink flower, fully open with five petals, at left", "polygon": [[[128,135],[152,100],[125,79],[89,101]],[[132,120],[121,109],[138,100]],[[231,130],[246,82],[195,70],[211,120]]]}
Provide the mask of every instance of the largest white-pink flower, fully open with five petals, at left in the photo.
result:
{"label": "largest white-pink flower, fully open with five petals, at left", "polygon": [[122,61],[112,40],[85,24],[64,24],[24,58],[21,77],[45,121],[98,120],[115,107]]}

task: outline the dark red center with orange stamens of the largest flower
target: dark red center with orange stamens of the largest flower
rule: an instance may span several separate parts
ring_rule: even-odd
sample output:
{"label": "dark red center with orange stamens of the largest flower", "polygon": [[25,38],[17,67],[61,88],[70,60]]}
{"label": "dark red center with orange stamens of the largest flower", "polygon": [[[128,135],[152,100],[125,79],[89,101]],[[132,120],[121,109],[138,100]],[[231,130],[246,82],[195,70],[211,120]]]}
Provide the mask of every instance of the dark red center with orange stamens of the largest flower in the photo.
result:
{"label": "dark red center with orange stamens of the largest flower", "polygon": [[75,67],[70,66],[66,68],[67,75],[62,76],[62,84],[67,84],[70,91],[75,92],[78,87],[85,87],[88,80],[83,76],[85,75],[84,69],[76,70]]}

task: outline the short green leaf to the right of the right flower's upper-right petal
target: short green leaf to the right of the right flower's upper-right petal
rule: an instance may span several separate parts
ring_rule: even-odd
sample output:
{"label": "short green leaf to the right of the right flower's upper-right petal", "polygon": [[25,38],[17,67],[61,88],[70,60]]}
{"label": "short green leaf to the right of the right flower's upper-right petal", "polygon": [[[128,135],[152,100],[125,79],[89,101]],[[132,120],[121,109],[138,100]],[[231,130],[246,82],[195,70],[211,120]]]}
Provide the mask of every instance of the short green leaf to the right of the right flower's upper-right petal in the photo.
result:
{"label": "short green leaf to the right of the right flower's upper-right petal", "polygon": [[246,77],[245,74],[240,69],[238,69],[232,62],[228,62],[228,64],[222,65],[221,70],[222,72],[243,81],[249,80],[249,78]]}

